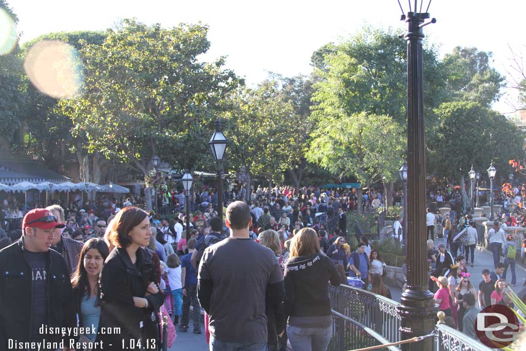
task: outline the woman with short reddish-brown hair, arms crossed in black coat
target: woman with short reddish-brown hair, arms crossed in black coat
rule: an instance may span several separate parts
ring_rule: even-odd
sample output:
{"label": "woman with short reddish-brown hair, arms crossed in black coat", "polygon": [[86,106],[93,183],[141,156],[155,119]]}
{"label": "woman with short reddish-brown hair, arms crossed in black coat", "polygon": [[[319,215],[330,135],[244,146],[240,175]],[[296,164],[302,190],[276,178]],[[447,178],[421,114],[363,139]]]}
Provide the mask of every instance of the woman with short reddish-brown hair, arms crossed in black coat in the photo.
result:
{"label": "woman with short reddish-brown hair, arms crossed in black coat", "polygon": [[158,347],[154,312],[165,297],[158,286],[158,257],[145,248],[150,236],[148,214],[140,208],[127,206],[115,216],[108,234],[115,248],[100,273],[99,327],[120,328],[120,334],[97,335],[106,350]]}

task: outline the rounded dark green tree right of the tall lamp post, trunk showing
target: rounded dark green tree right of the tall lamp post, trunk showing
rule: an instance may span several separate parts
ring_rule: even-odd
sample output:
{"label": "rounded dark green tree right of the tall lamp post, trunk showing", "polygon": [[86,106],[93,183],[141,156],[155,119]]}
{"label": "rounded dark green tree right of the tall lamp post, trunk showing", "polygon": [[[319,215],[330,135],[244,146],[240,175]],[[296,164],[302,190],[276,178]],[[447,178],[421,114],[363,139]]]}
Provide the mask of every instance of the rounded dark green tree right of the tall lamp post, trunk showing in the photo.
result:
{"label": "rounded dark green tree right of the tall lamp post, trunk showing", "polygon": [[[429,141],[428,169],[465,184],[471,164],[482,171],[493,160],[504,172],[508,161],[524,154],[524,134],[507,119],[472,101],[444,103],[437,108],[440,124]],[[481,172],[482,173],[482,172]],[[470,205],[463,186],[465,205]]]}

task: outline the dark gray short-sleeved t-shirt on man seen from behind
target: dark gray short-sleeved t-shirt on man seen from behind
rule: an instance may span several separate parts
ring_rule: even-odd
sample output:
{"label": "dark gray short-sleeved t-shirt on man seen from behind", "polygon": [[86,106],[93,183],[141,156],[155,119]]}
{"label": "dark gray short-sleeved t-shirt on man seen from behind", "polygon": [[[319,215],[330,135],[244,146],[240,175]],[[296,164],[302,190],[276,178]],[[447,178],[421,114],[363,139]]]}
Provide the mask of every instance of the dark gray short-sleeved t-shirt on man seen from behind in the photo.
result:
{"label": "dark gray short-sleeved t-shirt on man seen from behind", "polygon": [[252,239],[226,238],[203,254],[199,279],[211,279],[210,334],[229,343],[266,343],[265,292],[283,280],[276,255]]}

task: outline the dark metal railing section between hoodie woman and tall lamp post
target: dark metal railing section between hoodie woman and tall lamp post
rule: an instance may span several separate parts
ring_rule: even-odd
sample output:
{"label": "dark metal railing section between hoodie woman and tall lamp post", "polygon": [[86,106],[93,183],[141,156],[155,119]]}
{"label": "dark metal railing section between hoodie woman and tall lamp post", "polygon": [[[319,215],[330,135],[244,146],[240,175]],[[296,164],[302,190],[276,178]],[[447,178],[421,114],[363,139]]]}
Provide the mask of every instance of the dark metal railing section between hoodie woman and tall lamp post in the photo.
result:
{"label": "dark metal railing section between hoodie woman and tall lamp post", "polygon": [[[359,340],[365,345],[361,347],[400,341],[400,316],[397,313],[399,303],[347,285],[330,286],[329,297],[335,320],[331,344],[334,347],[331,350],[359,348],[355,347],[356,344],[347,347],[353,340]],[[371,339],[376,340],[376,344]],[[371,343],[372,345],[367,345]]]}

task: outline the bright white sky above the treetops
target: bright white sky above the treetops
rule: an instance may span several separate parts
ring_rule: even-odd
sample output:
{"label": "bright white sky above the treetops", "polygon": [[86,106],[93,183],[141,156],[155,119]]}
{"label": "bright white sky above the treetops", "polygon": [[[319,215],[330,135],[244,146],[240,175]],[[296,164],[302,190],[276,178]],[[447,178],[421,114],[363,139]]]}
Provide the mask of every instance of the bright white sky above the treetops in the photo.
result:
{"label": "bright white sky above the treetops", "polygon": [[[268,72],[309,74],[312,52],[348,38],[363,25],[404,27],[397,0],[7,1],[19,18],[22,43],[51,32],[104,30],[129,17],[165,27],[201,22],[210,27],[211,42],[202,59],[227,56],[227,67],[245,77],[249,86],[265,79]],[[426,8],[429,0],[423,1]],[[407,12],[408,0],[400,2]],[[503,75],[510,71],[509,47],[522,48],[526,56],[524,0],[434,0],[429,12],[437,23],[426,26],[424,33],[440,45],[441,56],[458,45],[475,46],[493,52],[493,66]],[[511,111],[505,100],[514,99],[511,89],[504,93],[510,95],[493,106],[502,113]]]}

